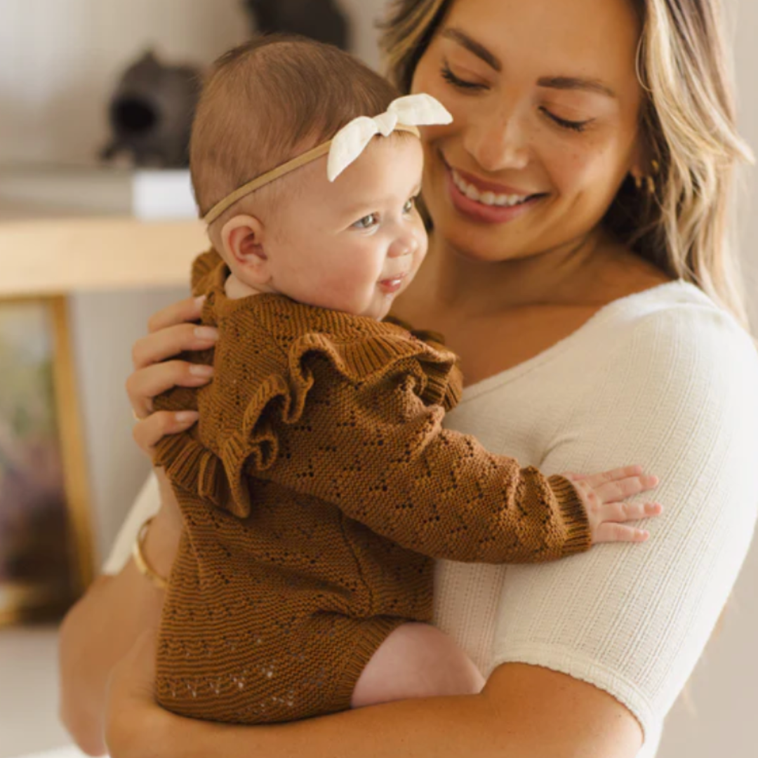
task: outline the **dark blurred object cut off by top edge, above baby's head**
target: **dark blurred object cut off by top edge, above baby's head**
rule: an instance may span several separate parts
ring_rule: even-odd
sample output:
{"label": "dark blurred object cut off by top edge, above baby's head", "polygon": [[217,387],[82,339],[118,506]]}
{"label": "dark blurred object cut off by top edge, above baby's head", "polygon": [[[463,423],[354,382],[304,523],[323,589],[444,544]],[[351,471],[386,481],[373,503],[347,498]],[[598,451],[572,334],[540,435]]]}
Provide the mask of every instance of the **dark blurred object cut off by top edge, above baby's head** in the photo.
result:
{"label": "dark blurred object cut off by top edge, above baby's head", "polygon": [[349,45],[347,19],[334,0],[245,0],[262,34],[302,34],[319,42]]}

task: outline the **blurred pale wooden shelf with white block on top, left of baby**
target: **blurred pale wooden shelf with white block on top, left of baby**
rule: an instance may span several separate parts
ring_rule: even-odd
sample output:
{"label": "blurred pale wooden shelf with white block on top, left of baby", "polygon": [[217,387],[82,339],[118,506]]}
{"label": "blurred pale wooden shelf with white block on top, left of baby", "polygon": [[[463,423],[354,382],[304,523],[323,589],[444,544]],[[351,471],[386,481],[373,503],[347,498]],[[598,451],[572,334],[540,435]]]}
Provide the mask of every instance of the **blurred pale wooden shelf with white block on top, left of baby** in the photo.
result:
{"label": "blurred pale wooden shelf with white block on top, left of baby", "polygon": [[0,296],[186,287],[207,247],[189,171],[0,168]]}

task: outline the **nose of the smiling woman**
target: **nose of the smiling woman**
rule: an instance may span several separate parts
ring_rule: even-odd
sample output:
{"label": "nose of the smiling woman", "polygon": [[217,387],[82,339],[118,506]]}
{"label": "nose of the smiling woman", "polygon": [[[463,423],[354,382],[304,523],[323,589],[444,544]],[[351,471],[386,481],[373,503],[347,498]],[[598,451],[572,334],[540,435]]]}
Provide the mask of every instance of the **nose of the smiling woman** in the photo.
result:
{"label": "nose of the smiling woman", "polygon": [[529,162],[527,136],[512,112],[492,114],[480,124],[471,124],[463,145],[484,171],[522,169]]}

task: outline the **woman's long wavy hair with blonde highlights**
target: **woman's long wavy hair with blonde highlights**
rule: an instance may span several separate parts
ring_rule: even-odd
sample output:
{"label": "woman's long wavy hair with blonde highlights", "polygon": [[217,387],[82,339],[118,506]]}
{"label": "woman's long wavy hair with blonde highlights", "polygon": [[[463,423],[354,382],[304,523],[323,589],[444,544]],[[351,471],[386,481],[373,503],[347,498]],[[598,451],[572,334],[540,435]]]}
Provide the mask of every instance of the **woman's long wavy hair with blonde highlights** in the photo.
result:
{"label": "woman's long wavy hair with blonde highlights", "polygon": [[[604,223],[637,255],[696,284],[747,327],[731,208],[735,164],[753,156],[736,127],[720,2],[633,2],[643,29],[637,72],[647,96],[641,139],[656,161],[655,189],[638,190],[629,177]],[[391,5],[382,47],[403,92],[452,5]]]}

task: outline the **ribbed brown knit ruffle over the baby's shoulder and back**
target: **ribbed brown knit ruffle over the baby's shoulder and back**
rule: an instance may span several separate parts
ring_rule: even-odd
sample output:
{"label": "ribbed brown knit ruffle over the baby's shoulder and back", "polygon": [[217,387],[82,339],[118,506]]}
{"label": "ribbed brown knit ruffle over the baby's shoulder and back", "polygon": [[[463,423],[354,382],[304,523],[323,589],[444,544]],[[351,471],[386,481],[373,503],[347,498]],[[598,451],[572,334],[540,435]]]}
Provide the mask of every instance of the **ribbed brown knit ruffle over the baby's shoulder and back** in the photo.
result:
{"label": "ribbed brown knit ruffle over the baby's shoulder and back", "polygon": [[[309,393],[315,384],[313,367],[317,361],[326,359],[334,369],[334,381],[348,382],[356,389],[365,384],[375,385],[390,375],[393,379],[405,375],[412,379],[412,391],[425,404],[447,405],[451,399],[457,402],[458,359],[442,346],[432,347],[396,324],[379,324],[333,312],[327,312],[330,315],[326,317],[332,321],[330,329],[293,336],[292,322],[308,321],[303,319],[308,315],[303,309],[319,314],[322,310],[310,309],[280,296],[258,297],[275,299],[271,305],[278,316],[277,324],[287,315],[290,319],[284,321],[290,326],[278,333],[276,330],[274,334],[268,332],[274,344],[270,351],[265,351],[267,360],[256,361],[251,367],[255,373],[258,364],[265,363],[265,373],[246,381],[242,391],[249,387],[249,394],[244,397],[244,412],[234,424],[234,431],[222,433],[220,429],[206,428],[198,434],[193,429],[164,437],[158,445],[156,463],[165,465],[168,478],[174,484],[196,493],[202,500],[240,518],[250,514],[249,477],[277,461],[282,424],[297,424],[307,415]],[[270,315],[272,309],[263,305],[259,312],[256,310],[250,309],[244,315],[258,321],[262,315],[265,318],[267,312]],[[243,314],[237,316],[240,315]],[[318,317],[313,320],[318,322]],[[339,328],[341,320],[346,321],[344,330]],[[356,321],[365,334],[356,334]],[[249,318],[244,318],[244,322],[249,326]],[[266,334],[260,329],[243,328],[242,323],[240,333],[257,334],[258,339]],[[238,373],[239,368],[217,366],[217,371]],[[391,390],[389,385],[387,390]],[[209,402],[212,404],[214,400],[211,398]],[[223,398],[218,402],[223,402]],[[255,496],[254,488],[252,496]]]}

